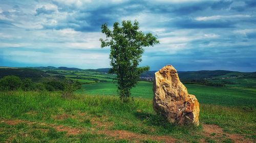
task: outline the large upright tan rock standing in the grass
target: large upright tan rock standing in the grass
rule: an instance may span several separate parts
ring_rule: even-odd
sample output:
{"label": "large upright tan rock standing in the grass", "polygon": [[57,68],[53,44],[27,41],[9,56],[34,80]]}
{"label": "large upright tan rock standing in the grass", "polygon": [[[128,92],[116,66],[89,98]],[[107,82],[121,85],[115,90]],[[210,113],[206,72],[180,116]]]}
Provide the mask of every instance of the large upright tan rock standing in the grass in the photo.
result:
{"label": "large upright tan rock standing in the grass", "polygon": [[153,107],[168,122],[180,125],[199,125],[199,103],[188,94],[172,65],[164,66],[155,73]]}

